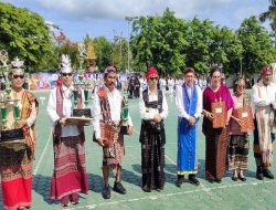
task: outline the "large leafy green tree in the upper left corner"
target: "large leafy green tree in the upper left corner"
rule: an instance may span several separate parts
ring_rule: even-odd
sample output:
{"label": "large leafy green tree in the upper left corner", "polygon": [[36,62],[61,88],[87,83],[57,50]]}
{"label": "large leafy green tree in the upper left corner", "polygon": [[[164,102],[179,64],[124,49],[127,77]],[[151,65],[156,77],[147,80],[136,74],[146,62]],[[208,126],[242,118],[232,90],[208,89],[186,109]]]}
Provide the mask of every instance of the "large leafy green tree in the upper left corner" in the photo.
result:
{"label": "large leafy green tree in the upper left corner", "polygon": [[52,56],[53,42],[42,17],[28,9],[0,3],[0,46],[10,57],[24,60],[26,71],[34,71]]}

